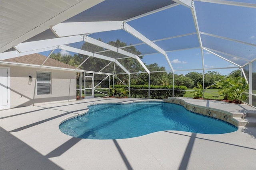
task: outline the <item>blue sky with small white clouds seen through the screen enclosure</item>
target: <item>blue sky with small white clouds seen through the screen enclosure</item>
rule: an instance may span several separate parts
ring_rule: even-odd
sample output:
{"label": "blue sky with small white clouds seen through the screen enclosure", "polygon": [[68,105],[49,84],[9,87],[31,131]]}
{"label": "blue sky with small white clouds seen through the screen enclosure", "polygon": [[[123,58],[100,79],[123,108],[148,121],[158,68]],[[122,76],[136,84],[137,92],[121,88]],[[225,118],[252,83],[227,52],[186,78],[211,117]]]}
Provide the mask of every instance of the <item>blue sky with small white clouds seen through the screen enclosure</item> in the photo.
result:
{"label": "blue sky with small white clouds seen through the screen enclosure", "polygon": [[[256,0],[237,0],[237,2],[256,3]],[[195,8],[200,31],[230,39],[236,39],[238,41],[244,41],[246,43],[256,44],[255,8],[200,3],[196,1]],[[134,27],[134,29],[140,31],[142,35],[146,36],[151,41],[196,32],[190,9],[182,5],[145,16],[137,20],[129,21],[128,24]],[[120,41],[125,42],[127,45],[142,42],[124,30],[93,33],[89,36],[95,39],[100,38],[105,43],[108,43],[109,41],[116,41],[116,39],[120,39]],[[252,60],[256,57],[256,47],[252,45],[228,41],[202,34],[201,39],[204,47],[232,54],[233,56],[228,56],[223,53],[214,52],[239,65],[243,65],[246,63],[246,60]],[[197,34],[157,41],[155,43],[165,51],[172,51],[168,52],[167,55],[174,70],[202,69],[202,56]],[[76,48],[80,48],[81,45],[82,43],[70,44],[70,46]],[[145,44],[137,45],[135,47],[142,54],[157,52]],[[179,49],[187,50],[177,51]],[[69,51],[61,51],[59,49],[54,51],[54,53],[58,52],[62,53],[62,55],[74,55],[74,53]],[[47,56],[48,53],[49,52],[41,54]],[[227,68],[211,70],[218,71],[223,75],[227,75],[233,70],[236,70],[236,68],[230,68],[234,67],[234,64],[224,61],[208,51],[204,51],[203,53],[204,68]],[[237,56],[238,58],[234,56]],[[246,60],[243,60],[243,58]],[[146,64],[157,63],[159,66],[164,66],[166,70],[171,70],[164,55],[161,54],[145,55],[142,61]],[[196,71],[202,72],[201,70]],[[187,72],[190,71],[178,71],[176,73],[186,74]]]}

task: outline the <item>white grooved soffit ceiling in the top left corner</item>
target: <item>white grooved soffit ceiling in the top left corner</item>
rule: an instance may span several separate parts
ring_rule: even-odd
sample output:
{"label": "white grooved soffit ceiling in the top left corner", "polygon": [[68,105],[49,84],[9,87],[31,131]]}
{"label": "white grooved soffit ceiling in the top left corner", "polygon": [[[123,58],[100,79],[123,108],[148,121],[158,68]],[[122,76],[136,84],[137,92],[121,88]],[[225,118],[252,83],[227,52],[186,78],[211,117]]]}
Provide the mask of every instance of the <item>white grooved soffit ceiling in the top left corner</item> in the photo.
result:
{"label": "white grooved soffit ceiling in the top left corner", "polygon": [[0,52],[100,2],[102,0],[1,0]]}

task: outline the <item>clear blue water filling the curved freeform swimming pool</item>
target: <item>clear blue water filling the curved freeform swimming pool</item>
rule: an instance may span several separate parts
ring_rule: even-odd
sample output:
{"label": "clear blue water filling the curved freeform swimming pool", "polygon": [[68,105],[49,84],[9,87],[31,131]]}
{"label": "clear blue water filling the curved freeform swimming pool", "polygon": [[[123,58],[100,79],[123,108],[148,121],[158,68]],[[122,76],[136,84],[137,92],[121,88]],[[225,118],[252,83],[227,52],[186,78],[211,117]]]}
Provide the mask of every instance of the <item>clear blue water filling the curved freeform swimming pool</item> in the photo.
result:
{"label": "clear blue water filling the curved freeform swimming pool", "polygon": [[237,130],[222,121],[164,102],[89,106],[88,113],[64,121],[59,128],[66,135],[84,139],[124,139],[165,130],[206,134]]}

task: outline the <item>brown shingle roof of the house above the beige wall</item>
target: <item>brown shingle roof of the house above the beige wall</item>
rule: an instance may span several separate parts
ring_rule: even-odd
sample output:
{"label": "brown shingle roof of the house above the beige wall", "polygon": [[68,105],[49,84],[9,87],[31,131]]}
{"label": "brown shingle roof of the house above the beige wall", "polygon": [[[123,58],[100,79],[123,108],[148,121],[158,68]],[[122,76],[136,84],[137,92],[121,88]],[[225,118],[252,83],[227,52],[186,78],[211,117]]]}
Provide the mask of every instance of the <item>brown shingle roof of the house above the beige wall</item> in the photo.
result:
{"label": "brown shingle roof of the house above the beige wall", "polygon": [[[12,63],[24,63],[24,64],[36,64],[36,65],[41,65],[44,60],[46,59],[45,56],[40,55],[40,54],[30,54],[30,55],[24,55],[21,57],[15,57],[11,59],[6,59],[2,61],[6,62],[12,62]],[[60,68],[71,68],[75,69],[76,67],[71,66],[66,63],[62,63],[60,61],[48,58],[46,62],[44,63],[44,66],[54,66],[54,67],[60,67]]]}

